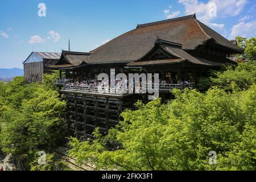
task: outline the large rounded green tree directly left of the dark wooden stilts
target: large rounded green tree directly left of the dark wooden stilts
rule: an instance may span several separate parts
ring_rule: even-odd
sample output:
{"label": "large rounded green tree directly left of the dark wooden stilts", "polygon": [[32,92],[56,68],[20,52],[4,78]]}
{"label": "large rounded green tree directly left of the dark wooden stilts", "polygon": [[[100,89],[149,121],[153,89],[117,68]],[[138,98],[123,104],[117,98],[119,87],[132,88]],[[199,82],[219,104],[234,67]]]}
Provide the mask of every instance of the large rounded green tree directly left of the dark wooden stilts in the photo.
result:
{"label": "large rounded green tree directly left of the dark wooden stilts", "polygon": [[9,108],[1,117],[2,150],[26,154],[30,150],[55,147],[65,137],[65,102],[53,90],[38,87],[34,98],[23,100],[20,111]]}

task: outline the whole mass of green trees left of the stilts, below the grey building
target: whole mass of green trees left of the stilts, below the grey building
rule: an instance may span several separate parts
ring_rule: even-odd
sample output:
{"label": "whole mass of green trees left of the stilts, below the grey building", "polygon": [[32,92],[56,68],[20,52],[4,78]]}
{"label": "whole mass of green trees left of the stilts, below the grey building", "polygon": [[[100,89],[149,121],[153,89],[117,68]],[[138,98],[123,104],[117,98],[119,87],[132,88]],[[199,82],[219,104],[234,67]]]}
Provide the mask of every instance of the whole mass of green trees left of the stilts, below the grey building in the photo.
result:
{"label": "whole mass of green trees left of the stilts, below the grey building", "polygon": [[3,152],[28,155],[48,151],[65,139],[65,101],[54,86],[54,75],[42,85],[24,77],[0,83],[0,146]]}

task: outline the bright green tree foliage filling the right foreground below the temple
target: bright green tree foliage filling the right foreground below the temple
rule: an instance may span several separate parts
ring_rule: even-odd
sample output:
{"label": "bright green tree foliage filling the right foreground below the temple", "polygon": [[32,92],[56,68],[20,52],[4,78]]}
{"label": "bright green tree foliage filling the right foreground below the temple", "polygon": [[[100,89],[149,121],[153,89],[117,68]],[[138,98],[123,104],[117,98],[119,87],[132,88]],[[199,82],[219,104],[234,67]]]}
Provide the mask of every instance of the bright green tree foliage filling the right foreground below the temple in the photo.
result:
{"label": "bright green tree foliage filling the right foreground below the temple", "polygon": [[[105,137],[96,130],[91,143],[72,139],[69,153],[96,169],[255,170],[255,71],[255,62],[241,63],[213,72],[216,86],[205,93],[174,90],[168,104],[139,101]],[[210,151],[217,152],[217,165],[208,163]]]}

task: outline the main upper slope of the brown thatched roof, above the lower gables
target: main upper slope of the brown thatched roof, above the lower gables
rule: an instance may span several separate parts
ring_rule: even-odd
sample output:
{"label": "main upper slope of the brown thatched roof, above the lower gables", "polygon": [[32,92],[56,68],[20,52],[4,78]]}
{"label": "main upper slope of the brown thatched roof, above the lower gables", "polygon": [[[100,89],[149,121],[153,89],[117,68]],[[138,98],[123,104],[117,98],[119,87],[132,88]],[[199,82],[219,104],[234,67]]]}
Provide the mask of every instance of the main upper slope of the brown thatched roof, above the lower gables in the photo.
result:
{"label": "main upper slope of the brown thatched roof, above the lower gables", "polygon": [[182,44],[182,49],[193,50],[208,40],[239,53],[243,49],[229,42],[216,31],[196,19],[195,15],[159,22],[140,24],[117,38],[110,40],[90,55],[89,63],[108,63],[140,59],[154,47],[157,38]]}

